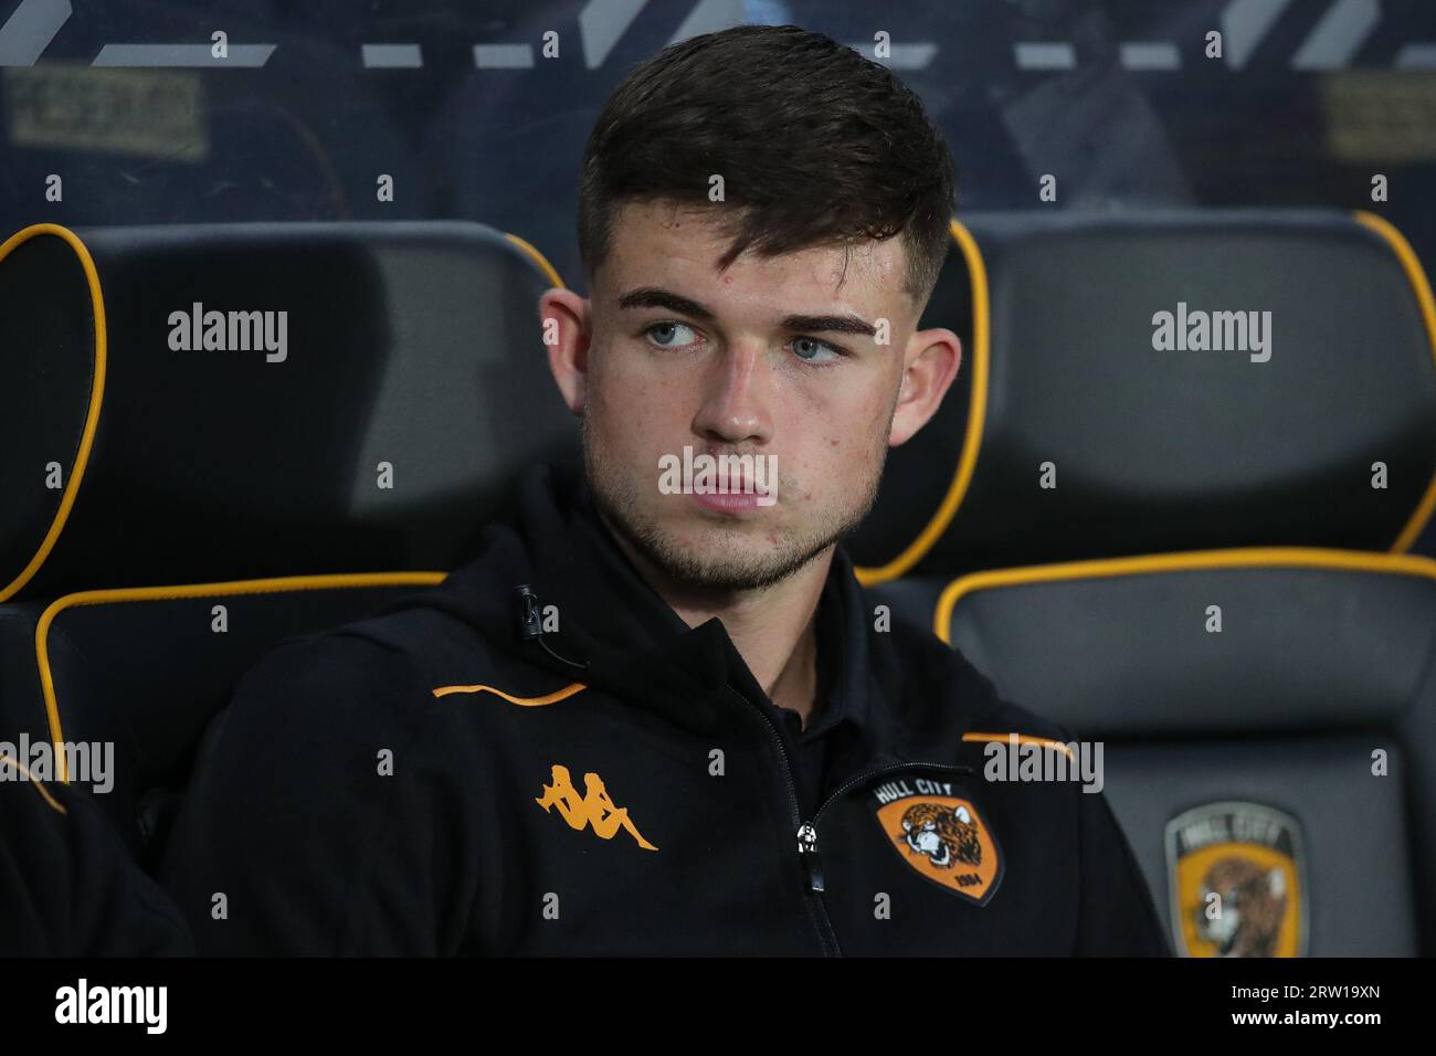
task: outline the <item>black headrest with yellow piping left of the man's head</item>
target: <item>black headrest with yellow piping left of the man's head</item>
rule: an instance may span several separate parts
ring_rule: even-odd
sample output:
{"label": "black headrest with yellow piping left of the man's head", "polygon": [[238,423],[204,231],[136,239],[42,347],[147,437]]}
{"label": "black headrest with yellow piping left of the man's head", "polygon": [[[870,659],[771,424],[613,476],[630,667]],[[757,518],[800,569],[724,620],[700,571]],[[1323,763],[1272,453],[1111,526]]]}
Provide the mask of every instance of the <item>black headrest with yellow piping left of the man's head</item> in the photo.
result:
{"label": "black headrest with yellow piping left of the man's head", "polygon": [[577,444],[533,247],[464,221],[0,246],[0,601],[451,568]]}

